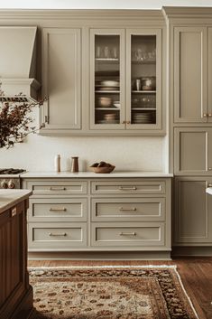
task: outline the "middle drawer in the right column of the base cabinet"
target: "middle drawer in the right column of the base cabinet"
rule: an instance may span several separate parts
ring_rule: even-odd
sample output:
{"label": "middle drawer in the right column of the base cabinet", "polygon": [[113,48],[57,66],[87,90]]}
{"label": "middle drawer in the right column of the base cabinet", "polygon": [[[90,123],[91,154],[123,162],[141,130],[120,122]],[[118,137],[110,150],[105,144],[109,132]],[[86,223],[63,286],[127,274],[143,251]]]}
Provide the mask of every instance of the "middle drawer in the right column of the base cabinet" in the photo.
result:
{"label": "middle drawer in the right column of the base cabinet", "polygon": [[93,198],[91,218],[94,221],[164,220],[165,198]]}

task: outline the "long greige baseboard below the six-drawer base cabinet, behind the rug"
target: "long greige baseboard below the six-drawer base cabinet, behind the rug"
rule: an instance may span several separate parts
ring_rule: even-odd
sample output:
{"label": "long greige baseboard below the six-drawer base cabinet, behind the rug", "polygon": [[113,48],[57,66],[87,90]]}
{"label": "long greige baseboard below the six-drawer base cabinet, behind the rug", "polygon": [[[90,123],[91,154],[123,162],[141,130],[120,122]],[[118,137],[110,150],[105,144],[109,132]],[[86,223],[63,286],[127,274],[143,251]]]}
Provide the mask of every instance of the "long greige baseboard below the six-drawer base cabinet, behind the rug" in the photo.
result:
{"label": "long greige baseboard below the six-drawer base cabinet, behind the rug", "polygon": [[29,260],[171,260],[170,251],[30,252]]}

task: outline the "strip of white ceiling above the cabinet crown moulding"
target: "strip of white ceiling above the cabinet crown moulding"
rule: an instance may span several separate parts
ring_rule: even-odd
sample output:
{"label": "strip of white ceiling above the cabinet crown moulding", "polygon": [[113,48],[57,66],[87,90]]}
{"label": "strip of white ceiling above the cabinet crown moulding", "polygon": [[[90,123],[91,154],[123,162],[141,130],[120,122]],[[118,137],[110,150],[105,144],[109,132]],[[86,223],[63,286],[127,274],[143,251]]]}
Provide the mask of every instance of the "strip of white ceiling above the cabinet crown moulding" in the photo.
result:
{"label": "strip of white ceiling above the cabinet crown moulding", "polygon": [[212,0],[0,0],[0,9],[160,9],[212,6]]}

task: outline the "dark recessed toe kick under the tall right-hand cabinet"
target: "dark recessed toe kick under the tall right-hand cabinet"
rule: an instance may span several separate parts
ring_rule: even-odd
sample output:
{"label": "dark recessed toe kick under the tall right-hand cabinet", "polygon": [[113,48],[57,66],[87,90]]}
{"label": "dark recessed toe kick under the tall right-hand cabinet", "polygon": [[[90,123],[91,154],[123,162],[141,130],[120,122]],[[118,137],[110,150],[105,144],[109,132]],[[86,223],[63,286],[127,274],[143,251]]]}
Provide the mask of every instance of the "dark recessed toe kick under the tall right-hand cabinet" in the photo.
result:
{"label": "dark recessed toe kick under the tall right-hand cabinet", "polygon": [[212,257],[212,247],[176,246],[172,248],[171,257]]}

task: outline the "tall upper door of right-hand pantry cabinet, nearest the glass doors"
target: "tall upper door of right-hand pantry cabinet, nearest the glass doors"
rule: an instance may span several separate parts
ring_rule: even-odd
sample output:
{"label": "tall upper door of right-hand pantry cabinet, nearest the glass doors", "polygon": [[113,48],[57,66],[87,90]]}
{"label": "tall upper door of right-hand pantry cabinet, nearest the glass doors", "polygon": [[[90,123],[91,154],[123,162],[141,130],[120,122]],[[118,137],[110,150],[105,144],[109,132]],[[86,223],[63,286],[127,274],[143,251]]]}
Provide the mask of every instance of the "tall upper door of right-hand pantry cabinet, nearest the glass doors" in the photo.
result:
{"label": "tall upper door of right-hand pantry cabinet, nearest the glass doors", "polygon": [[207,29],[174,28],[174,122],[207,122]]}

